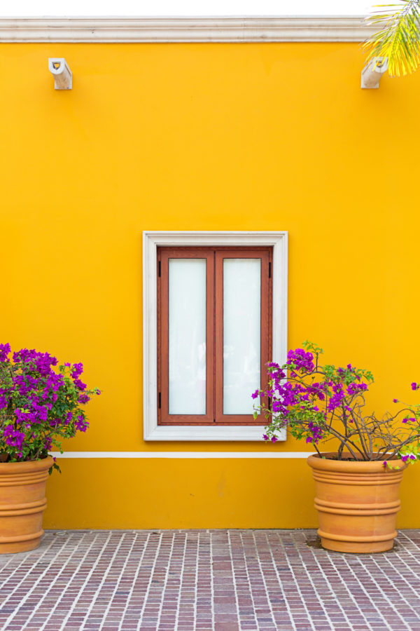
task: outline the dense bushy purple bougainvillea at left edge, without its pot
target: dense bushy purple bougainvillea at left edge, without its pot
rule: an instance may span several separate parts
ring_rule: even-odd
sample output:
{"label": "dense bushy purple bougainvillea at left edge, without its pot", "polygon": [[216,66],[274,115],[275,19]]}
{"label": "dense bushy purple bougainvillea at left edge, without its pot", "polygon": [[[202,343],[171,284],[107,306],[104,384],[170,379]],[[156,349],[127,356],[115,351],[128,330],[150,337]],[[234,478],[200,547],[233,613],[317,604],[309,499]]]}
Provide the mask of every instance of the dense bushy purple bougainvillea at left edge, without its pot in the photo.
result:
{"label": "dense bushy purple bougainvillea at left edge, without its pot", "polygon": [[0,344],[0,461],[40,460],[52,447],[62,453],[62,439],[89,426],[82,406],[99,390],[87,390],[80,363],[54,369],[55,357],[27,348],[9,355],[10,344]]}

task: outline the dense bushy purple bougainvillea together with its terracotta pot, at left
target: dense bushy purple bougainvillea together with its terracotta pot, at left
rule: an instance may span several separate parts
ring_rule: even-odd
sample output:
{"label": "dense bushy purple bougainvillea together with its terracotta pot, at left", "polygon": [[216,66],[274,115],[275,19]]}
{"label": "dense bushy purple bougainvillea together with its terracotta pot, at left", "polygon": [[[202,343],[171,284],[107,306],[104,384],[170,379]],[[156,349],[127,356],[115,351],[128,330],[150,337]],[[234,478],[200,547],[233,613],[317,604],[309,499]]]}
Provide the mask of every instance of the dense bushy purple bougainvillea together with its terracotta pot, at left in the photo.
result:
{"label": "dense bushy purple bougainvillea together with its terracotta pot, at left", "polygon": [[83,365],[57,367],[48,353],[13,353],[0,344],[0,554],[37,548],[42,530],[45,482],[61,440],[85,432],[83,405],[97,388],[80,380]]}

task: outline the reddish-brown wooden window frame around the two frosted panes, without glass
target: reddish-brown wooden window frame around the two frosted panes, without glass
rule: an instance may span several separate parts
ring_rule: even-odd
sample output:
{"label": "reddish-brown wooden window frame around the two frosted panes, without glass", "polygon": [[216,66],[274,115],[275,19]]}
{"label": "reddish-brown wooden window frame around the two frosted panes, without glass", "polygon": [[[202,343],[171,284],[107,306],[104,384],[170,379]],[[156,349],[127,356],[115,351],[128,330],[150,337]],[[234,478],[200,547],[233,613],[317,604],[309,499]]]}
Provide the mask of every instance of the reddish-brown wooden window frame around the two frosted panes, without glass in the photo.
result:
{"label": "reddish-brown wooden window frame around the two frosted panes, without glass", "polygon": [[[169,259],[207,260],[206,414],[169,414]],[[265,425],[261,416],[223,414],[223,259],[261,259],[261,387],[272,356],[272,247],[158,247],[158,425]],[[250,393],[251,396],[251,393]]]}

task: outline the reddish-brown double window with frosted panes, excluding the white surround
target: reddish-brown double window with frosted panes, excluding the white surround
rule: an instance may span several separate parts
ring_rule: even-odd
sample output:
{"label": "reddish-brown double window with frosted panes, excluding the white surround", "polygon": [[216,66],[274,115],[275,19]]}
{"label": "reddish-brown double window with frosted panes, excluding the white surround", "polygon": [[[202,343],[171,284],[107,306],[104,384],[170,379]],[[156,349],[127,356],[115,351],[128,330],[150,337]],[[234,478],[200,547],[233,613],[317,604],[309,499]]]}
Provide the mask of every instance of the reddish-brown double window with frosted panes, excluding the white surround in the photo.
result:
{"label": "reddish-brown double window with frosted panes, excluding the white surround", "polygon": [[265,425],[272,248],[158,248],[158,425]]}

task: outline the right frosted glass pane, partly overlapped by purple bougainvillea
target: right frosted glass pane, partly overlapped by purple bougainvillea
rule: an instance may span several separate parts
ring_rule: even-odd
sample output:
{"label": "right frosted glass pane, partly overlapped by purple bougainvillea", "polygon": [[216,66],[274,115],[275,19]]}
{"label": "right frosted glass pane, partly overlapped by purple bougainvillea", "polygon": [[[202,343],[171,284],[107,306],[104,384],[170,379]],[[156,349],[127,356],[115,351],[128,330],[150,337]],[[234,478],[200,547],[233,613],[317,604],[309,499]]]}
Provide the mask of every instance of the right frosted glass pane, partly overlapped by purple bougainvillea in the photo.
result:
{"label": "right frosted glass pane, partly overlapped by purple bougainvillea", "polygon": [[260,388],[261,260],[223,259],[223,414],[252,414]]}

